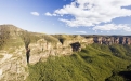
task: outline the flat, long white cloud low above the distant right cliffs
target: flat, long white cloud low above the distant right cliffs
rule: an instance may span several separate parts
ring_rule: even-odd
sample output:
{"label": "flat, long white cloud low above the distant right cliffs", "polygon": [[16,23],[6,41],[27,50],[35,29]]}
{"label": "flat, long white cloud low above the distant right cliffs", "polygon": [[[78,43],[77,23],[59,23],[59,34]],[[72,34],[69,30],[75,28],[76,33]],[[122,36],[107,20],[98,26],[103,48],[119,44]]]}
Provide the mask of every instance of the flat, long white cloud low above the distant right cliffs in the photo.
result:
{"label": "flat, long white cloud low above the distant right cliffs", "polygon": [[93,27],[93,30],[122,30],[122,31],[131,31],[131,27],[129,27],[127,24],[105,24],[102,26],[95,26]]}

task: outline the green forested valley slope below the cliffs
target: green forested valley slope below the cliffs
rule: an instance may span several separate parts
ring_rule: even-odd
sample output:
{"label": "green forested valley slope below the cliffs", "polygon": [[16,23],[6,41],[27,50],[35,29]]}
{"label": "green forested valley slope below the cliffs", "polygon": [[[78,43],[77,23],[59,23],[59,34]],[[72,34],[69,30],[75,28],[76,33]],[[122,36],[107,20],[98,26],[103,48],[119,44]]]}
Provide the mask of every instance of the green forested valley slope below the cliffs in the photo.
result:
{"label": "green forested valley slope below the cliffs", "polygon": [[50,56],[29,65],[27,81],[128,81],[119,72],[131,64],[130,51],[130,45],[92,44],[70,56]]}

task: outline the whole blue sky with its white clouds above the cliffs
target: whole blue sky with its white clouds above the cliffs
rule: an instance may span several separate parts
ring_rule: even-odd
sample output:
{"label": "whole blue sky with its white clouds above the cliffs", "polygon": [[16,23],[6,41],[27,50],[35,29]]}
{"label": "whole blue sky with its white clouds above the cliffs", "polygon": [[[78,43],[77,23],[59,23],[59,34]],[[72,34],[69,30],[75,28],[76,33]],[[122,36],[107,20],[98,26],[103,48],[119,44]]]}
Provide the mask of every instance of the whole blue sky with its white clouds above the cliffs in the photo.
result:
{"label": "whole blue sky with its white clouds above the cliffs", "polygon": [[131,35],[131,0],[0,0],[0,25],[48,35]]}

